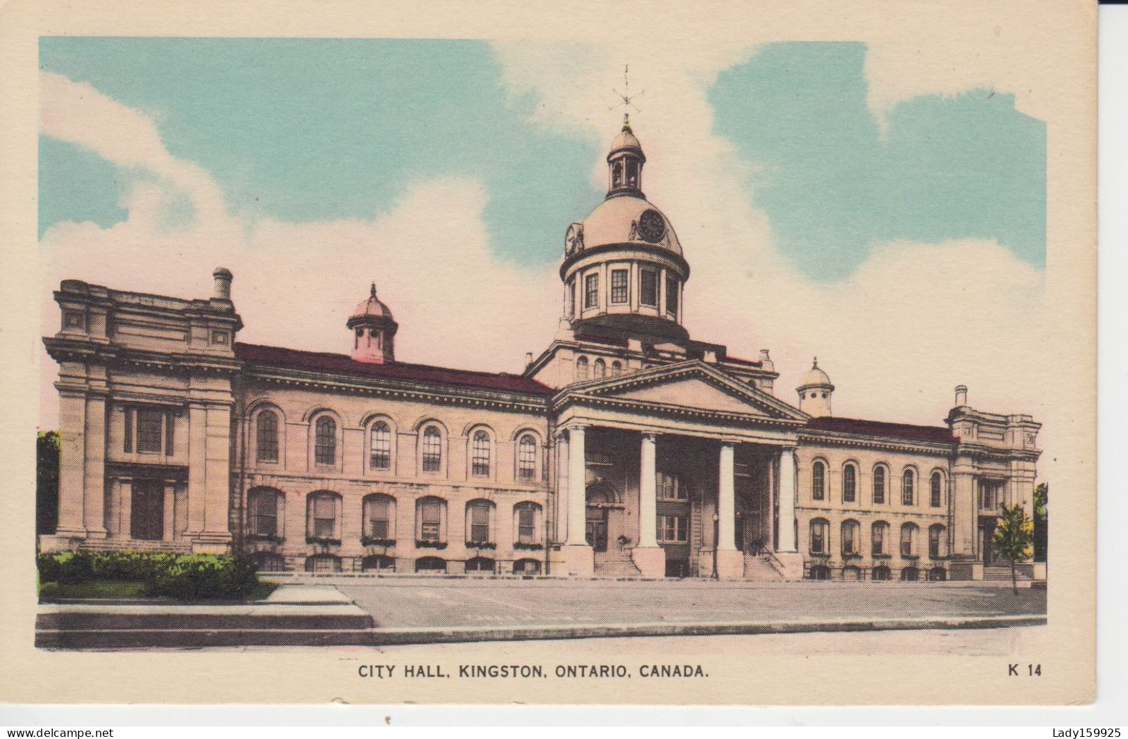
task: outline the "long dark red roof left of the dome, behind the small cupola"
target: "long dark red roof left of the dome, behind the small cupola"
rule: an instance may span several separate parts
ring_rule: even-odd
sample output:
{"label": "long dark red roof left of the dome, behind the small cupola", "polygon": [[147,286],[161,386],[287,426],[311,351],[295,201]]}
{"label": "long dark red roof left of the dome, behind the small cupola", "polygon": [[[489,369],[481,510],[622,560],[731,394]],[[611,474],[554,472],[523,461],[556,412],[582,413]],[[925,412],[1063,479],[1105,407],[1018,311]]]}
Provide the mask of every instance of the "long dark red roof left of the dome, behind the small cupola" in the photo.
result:
{"label": "long dark red roof left of the dome, behind the small cupola", "polygon": [[331,375],[405,380],[426,385],[468,387],[501,393],[522,393],[541,397],[550,396],[554,393],[550,387],[543,382],[521,377],[520,375],[506,375],[504,372],[472,372],[469,370],[432,367],[430,364],[411,364],[407,362],[374,364],[371,362],[354,361],[345,354],[303,352],[297,349],[261,346],[258,344],[244,344],[239,342],[235,344],[235,355],[245,362],[254,364],[328,372]]}

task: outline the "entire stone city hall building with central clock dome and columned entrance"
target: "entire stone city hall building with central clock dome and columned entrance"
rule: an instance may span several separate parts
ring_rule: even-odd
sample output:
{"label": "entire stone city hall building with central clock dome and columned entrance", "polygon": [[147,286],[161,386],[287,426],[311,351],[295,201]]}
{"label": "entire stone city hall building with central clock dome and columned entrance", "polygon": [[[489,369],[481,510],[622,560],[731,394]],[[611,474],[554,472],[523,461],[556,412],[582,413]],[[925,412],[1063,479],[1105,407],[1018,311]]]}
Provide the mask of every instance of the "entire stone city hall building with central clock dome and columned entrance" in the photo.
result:
{"label": "entire stone city hall building with central clock dome and columned entrance", "polygon": [[[689,262],[629,124],[567,228],[564,315],[520,376],[400,361],[373,285],[347,352],[245,344],[232,275],[184,300],[64,280],[52,549],[239,551],[265,571],[926,580],[992,577],[1031,511],[1040,424],[836,417],[682,326]],[[409,279],[409,275],[397,275]],[[344,318],[344,317],[342,317]],[[412,331],[412,326],[404,326]]]}

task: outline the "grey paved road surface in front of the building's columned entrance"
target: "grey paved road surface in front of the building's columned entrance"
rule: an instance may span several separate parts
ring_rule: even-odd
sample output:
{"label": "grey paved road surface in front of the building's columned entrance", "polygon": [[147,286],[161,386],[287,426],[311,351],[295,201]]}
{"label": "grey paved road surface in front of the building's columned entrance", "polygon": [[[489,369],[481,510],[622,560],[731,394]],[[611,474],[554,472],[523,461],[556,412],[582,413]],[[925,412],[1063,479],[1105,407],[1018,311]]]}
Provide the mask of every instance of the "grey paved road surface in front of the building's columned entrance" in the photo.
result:
{"label": "grey paved road surface in front of the building's columned entrance", "polygon": [[326,578],[378,626],[825,621],[1046,614],[1046,591],[883,582]]}

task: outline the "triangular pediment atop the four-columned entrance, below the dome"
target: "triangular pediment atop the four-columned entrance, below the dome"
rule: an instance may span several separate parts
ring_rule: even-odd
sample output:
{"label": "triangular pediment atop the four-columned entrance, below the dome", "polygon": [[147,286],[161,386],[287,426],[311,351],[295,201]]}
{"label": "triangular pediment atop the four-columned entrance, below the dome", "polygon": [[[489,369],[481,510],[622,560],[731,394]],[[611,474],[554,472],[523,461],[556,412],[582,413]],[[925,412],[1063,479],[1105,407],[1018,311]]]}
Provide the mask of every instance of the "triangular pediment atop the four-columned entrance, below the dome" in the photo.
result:
{"label": "triangular pediment atop the four-columned entrance, below the dome", "polygon": [[599,398],[708,413],[794,421],[807,417],[772,395],[698,361],[588,382],[576,387],[574,392]]}

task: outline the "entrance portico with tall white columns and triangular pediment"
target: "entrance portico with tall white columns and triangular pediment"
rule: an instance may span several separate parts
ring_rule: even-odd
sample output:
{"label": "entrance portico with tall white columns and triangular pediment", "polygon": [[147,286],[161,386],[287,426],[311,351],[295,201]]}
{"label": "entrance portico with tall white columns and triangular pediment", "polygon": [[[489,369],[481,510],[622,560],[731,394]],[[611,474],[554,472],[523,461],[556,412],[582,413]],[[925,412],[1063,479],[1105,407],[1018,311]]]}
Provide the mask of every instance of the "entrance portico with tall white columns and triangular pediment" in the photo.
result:
{"label": "entrance portico with tall white columns and triangular pediment", "polygon": [[746,553],[795,552],[795,408],[700,361],[572,386],[554,403],[567,574],[629,556],[642,577],[733,580]]}

